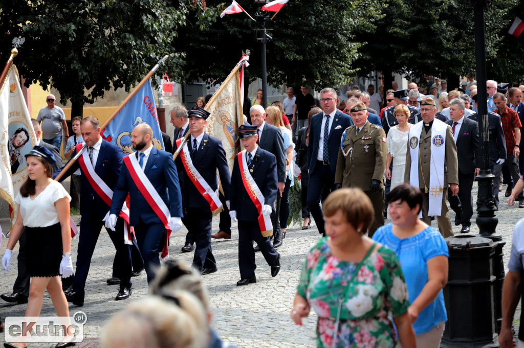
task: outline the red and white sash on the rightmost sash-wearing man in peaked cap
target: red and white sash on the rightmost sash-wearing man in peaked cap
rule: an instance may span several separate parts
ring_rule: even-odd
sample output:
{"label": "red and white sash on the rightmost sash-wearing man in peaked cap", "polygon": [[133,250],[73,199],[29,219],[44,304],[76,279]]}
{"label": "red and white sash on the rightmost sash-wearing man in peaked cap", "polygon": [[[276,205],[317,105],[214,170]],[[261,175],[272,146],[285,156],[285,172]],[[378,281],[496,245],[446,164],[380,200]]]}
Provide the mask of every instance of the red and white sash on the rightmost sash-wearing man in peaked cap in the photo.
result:
{"label": "red and white sash on the rightmost sash-wearing man in peaked cap", "polygon": [[247,151],[244,150],[237,155],[238,166],[240,167],[240,174],[242,176],[242,183],[244,184],[247,195],[257,208],[260,231],[262,232],[263,237],[269,237],[271,234],[273,234],[273,225],[269,215],[262,214],[262,207],[264,207],[265,203],[264,195],[258,188],[255,179],[253,179],[253,176],[251,176],[251,173],[249,173],[246,153]]}

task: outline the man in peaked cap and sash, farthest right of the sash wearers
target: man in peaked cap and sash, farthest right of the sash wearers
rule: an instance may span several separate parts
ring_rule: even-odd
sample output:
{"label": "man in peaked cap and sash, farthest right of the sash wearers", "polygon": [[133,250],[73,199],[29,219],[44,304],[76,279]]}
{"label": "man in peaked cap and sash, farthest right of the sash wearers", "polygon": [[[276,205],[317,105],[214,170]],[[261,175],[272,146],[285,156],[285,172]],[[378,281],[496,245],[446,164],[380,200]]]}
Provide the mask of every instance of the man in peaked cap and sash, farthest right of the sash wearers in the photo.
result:
{"label": "man in peaked cap and sash, farthest right of the sash wearers", "polygon": [[256,283],[255,251],[258,244],[266,262],[271,266],[271,276],[280,271],[280,254],[269,236],[273,226],[269,215],[277,197],[277,159],[257,145],[257,126],[238,127],[244,151],[235,156],[231,173],[231,211],[233,221],[238,219],[238,265],[240,276],[236,285]]}

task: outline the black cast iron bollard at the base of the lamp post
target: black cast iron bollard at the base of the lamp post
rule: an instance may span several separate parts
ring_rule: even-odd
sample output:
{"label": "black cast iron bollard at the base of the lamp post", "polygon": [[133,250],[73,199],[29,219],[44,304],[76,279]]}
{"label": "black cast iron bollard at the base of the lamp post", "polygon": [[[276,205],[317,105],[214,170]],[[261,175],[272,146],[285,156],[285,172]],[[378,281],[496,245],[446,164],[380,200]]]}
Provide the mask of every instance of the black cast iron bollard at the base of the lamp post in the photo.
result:
{"label": "black cast iron bollard at the base of the lamp post", "polygon": [[444,288],[443,348],[498,347],[493,259],[496,243],[471,234],[446,238],[450,252]]}

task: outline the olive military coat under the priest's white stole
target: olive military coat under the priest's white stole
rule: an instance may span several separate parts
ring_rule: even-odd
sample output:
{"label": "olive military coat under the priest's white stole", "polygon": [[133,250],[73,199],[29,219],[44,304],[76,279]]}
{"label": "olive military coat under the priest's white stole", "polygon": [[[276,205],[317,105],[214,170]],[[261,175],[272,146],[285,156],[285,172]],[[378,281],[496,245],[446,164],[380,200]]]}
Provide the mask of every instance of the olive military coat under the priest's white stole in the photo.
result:
{"label": "olive military coat under the priest's white stole", "polygon": [[[423,122],[423,121],[421,121]],[[406,154],[406,170],[404,171],[404,182],[409,184],[409,172],[411,169],[411,154],[410,154],[410,139],[408,139],[408,153]],[[429,174],[431,164],[431,128],[429,133],[425,132],[422,126],[420,138],[418,142],[419,147],[419,188],[424,192],[424,182],[426,187],[430,187]],[[445,158],[444,158],[444,182],[441,184],[443,188],[448,184],[459,184],[459,162],[457,161],[457,147],[453,137],[451,127],[447,125],[446,128],[446,144],[445,144]],[[421,171],[422,169],[422,171]]]}

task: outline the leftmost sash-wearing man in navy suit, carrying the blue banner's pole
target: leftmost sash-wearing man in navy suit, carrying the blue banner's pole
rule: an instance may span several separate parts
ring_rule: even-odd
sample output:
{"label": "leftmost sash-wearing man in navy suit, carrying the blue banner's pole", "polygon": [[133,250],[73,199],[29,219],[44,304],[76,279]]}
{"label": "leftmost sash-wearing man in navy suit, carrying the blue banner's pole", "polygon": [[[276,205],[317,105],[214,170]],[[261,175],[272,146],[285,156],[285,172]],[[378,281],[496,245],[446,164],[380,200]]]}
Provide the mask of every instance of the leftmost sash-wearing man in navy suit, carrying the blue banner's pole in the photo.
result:
{"label": "leftmost sash-wearing man in navy suit, carrying the blue banner's pole", "polygon": [[[82,119],[80,130],[82,131],[82,138],[88,147],[85,151],[89,153],[88,161],[94,167],[94,172],[108,188],[113,190],[121,173],[122,150],[117,145],[102,139],[100,136],[100,123],[93,116]],[[73,152],[71,158],[74,158],[76,153],[77,150]],[[73,305],[83,306],[85,279],[88,277],[91,257],[104,224],[103,219],[106,217],[110,207],[96,192],[88,179],[88,173],[84,172],[79,161],[75,161],[61,179],[65,179],[79,168],[82,171],[82,188],[80,191],[80,214],[82,219],[80,220],[81,231],[78,243],[77,273],[74,275],[72,289],[65,292],[65,297],[67,297],[69,302],[73,302]],[[61,170],[54,173],[53,176],[58,175]],[[122,203],[118,212],[121,209]],[[115,232],[109,232],[108,234],[115,245],[115,257],[119,260],[117,264],[120,270],[120,289],[116,300],[123,300],[131,295],[131,252],[129,245],[124,243],[124,220],[120,217],[118,220],[115,218],[115,225]]]}

